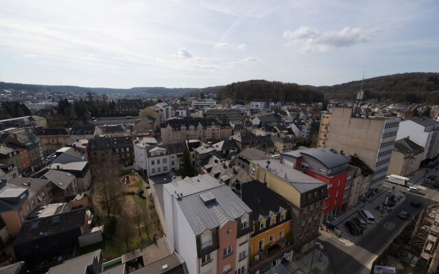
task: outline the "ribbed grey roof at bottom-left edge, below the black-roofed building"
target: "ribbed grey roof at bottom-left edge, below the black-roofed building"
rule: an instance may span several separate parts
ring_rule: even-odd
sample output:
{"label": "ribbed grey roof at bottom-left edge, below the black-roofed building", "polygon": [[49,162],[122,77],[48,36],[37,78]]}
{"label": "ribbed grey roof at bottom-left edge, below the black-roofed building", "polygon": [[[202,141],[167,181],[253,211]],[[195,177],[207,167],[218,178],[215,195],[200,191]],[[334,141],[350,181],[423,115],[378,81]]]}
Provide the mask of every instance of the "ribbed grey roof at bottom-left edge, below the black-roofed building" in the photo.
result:
{"label": "ribbed grey roof at bottom-left edge, below the black-roofed building", "polygon": [[87,266],[93,265],[93,261],[99,261],[101,257],[101,249],[86,253],[82,256],[73,258],[53,266],[47,274],[78,274],[87,273]]}

